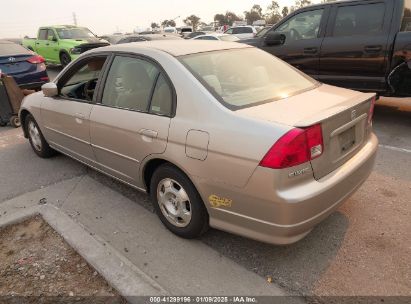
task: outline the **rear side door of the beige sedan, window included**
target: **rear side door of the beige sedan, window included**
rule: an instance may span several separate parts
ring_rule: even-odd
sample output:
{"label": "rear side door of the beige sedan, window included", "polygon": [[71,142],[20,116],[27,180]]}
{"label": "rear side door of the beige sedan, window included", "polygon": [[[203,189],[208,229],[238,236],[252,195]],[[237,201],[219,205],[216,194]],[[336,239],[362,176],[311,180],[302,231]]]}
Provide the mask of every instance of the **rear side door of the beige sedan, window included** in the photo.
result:
{"label": "rear side door of the beige sedan, window included", "polygon": [[113,59],[90,116],[91,144],[103,171],[138,185],[143,159],[166,149],[173,92],[165,72],[150,59]]}

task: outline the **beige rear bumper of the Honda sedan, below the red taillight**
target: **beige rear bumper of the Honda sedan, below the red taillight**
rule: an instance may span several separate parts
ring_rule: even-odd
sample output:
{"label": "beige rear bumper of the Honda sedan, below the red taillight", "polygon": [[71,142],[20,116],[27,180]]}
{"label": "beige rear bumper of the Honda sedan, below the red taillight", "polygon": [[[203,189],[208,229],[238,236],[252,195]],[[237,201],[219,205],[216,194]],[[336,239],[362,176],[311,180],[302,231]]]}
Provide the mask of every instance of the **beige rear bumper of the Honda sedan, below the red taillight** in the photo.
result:
{"label": "beige rear bumper of the Honda sedan, below the red taillight", "polygon": [[267,243],[294,243],[362,185],[373,169],[377,148],[378,139],[371,134],[362,149],[332,173],[288,188],[278,186],[275,170],[262,167],[242,189],[200,186],[206,203],[212,193],[232,200],[230,206],[208,205],[210,226]]}

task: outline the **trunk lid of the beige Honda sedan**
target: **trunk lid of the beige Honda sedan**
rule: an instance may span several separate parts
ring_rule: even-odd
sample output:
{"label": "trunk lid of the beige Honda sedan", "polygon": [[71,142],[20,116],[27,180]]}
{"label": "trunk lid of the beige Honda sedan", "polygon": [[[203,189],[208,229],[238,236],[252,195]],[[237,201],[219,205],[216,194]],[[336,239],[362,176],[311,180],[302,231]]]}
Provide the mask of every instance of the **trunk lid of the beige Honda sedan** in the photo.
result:
{"label": "trunk lid of the beige Honda sedan", "polygon": [[323,153],[311,160],[314,177],[318,180],[343,165],[363,145],[374,96],[321,85],[305,93],[237,113],[297,128],[321,124]]}

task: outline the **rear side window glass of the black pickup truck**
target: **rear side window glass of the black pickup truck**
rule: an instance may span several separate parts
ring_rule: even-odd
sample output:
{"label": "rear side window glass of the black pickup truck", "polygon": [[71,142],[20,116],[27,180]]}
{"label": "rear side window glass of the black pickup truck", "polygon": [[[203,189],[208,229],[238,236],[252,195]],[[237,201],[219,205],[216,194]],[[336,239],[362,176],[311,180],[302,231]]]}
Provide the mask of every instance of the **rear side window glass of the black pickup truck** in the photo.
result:
{"label": "rear side window glass of the black pickup truck", "polygon": [[343,37],[379,34],[383,29],[384,15],[384,3],[339,7],[333,35]]}

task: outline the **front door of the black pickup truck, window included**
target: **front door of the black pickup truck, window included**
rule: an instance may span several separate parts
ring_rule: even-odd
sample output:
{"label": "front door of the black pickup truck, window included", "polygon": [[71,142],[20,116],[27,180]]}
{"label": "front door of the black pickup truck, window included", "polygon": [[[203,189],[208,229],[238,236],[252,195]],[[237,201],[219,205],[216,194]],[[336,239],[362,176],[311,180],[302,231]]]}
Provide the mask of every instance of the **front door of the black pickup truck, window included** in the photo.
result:
{"label": "front door of the black pickup truck, window included", "polygon": [[284,35],[284,43],[267,45],[265,39],[262,38],[261,48],[314,78],[317,77],[328,13],[327,6],[317,6],[290,16],[271,30]]}

